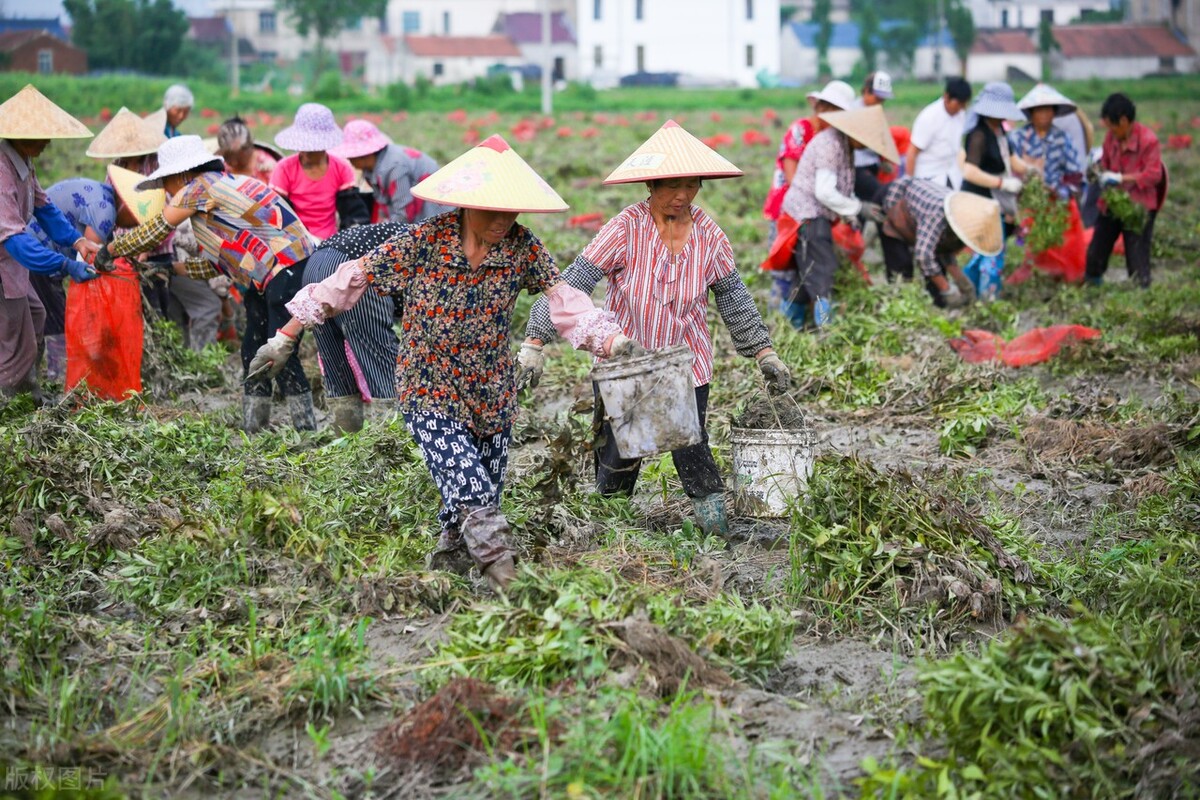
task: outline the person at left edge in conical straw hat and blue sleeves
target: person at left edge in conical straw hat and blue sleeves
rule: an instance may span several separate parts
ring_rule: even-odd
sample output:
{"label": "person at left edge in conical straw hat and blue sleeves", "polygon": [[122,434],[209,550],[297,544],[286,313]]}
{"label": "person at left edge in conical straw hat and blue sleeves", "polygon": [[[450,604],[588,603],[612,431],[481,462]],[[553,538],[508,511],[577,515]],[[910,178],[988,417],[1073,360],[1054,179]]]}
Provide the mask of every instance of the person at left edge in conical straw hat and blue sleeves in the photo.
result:
{"label": "person at left edge in conical straw hat and blue sleeves", "polygon": [[34,158],[50,139],[91,138],[83,122],[26,85],[0,104],[0,395],[32,392],[41,401],[37,361],[46,309],[30,272],[66,272],[76,282],[95,273],[83,261],[43,245],[28,230],[30,219],[49,239],[91,259],[97,245],[82,236],[37,182]]}

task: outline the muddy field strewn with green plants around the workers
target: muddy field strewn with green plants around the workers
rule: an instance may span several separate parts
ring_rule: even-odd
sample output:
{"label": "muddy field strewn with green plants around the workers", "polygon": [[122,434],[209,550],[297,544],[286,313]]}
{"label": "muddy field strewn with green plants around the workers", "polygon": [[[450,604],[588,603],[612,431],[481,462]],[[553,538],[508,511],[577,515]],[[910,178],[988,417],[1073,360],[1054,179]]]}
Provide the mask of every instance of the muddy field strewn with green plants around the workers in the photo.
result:
{"label": "muddy field strewn with green plants around the workers", "polygon": [[[1140,109],[1164,142],[1194,113]],[[572,205],[524,219],[564,264],[590,235],[570,215],[641,198],[598,175],[665,119],[595,116],[516,145]],[[684,124],[778,136],[757,112]],[[443,161],[472,125],[384,121]],[[556,137],[564,125],[598,134]],[[722,151],[746,178],[697,203],[766,307],[772,149]],[[589,362],[547,347],[504,498],[522,553],[508,602],[426,571],[437,494],[385,409],[335,438],[323,413],[320,432],[292,432],[277,404],[278,427],[248,439],[235,360],[163,331],[138,401],[0,408],[0,786],[1200,796],[1200,164],[1166,162],[1148,291],[1115,258],[1100,289],[1034,276],[943,313],[887,285],[869,251],[875,284],[841,270],[827,331],[770,315],[817,459],[788,516],[738,516],[733,543],[694,528],[670,457],[634,498],[590,492]],[[731,420],[762,425],[764,391],[712,323],[709,433],[728,475]],[[1020,369],[947,345],[1058,323],[1103,335]]]}

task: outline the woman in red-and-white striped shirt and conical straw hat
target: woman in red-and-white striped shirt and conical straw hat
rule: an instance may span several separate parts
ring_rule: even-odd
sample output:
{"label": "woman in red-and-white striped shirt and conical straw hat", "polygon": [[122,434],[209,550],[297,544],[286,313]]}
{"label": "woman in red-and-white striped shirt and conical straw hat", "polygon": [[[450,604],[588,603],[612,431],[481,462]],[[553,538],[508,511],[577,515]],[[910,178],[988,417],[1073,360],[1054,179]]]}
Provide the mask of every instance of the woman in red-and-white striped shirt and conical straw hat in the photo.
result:
{"label": "woman in red-and-white striped shirt and conical straw hat", "polygon": [[[742,170],[702,142],[667,121],[625,160],[605,184],[641,184],[649,197],[608,221],[575,259],[564,278],[583,293],[607,278],[605,308],[612,312],[631,350],[686,344],[692,354],[696,410],[704,427],[708,384],[713,377],[713,342],[706,314],[708,293],[730,329],[738,353],[758,361],[767,386],[786,391],[791,373],[775,354],[758,308],[738,275],[730,240],[716,223],[692,205],[702,181],[737,178]],[[534,303],[521,347],[522,379],[536,385],[542,371],[542,345],[553,337],[547,306]],[[596,489],[601,494],[631,493],[640,459],[622,458],[596,395]],[[724,481],[708,446],[671,453],[706,534],[728,534]]]}

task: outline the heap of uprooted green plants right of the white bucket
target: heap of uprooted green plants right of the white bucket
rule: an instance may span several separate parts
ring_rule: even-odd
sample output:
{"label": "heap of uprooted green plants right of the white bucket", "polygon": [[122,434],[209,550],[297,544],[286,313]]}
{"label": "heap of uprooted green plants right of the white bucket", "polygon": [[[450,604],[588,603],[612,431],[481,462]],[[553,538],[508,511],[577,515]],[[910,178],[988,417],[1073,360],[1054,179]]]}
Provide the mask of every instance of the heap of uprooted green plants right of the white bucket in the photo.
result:
{"label": "heap of uprooted green plants right of the white bucket", "polygon": [[792,602],[840,630],[937,651],[964,625],[1045,606],[1049,570],[1015,519],[980,515],[907,471],[817,459],[792,512]]}

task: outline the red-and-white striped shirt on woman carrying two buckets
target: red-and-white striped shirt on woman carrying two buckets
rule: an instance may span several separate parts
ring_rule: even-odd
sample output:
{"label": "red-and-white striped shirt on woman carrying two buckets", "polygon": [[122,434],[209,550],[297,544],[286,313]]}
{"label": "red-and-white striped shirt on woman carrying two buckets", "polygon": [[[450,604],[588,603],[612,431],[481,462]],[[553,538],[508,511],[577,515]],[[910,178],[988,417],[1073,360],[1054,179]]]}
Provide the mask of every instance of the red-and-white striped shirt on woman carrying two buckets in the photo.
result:
{"label": "red-and-white striped shirt on woman carrying two buckets", "polygon": [[697,386],[713,379],[708,288],[734,271],[733,248],[712,217],[691,206],[691,234],[672,255],[642,200],[608,221],[580,254],[608,278],[605,308],[647,349],[686,344]]}

